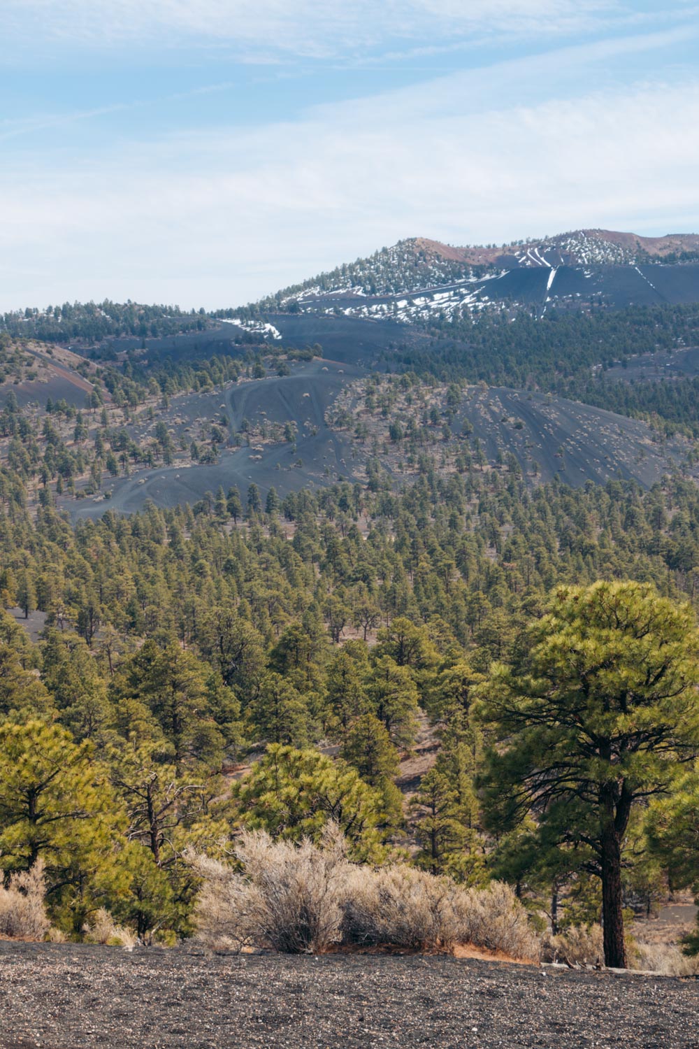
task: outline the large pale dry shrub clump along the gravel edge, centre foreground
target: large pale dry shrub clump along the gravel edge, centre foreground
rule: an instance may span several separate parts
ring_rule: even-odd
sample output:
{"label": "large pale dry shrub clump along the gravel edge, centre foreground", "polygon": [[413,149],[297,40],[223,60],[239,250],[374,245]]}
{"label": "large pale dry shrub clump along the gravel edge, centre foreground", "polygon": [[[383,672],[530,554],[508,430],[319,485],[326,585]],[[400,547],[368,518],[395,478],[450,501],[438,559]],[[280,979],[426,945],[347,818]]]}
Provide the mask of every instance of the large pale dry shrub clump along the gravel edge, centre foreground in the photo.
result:
{"label": "large pale dry shrub clump along the gravel edge, centre foreground", "polygon": [[511,890],[466,890],[406,865],[372,870],[349,863],[334,835],[322,848],[241,835],[240,871],[191,857],[203,879],[198,937],[214,948],[266,946],[318,952],[347,946],[451,950],[475,944],[536,959],[537,937]]}

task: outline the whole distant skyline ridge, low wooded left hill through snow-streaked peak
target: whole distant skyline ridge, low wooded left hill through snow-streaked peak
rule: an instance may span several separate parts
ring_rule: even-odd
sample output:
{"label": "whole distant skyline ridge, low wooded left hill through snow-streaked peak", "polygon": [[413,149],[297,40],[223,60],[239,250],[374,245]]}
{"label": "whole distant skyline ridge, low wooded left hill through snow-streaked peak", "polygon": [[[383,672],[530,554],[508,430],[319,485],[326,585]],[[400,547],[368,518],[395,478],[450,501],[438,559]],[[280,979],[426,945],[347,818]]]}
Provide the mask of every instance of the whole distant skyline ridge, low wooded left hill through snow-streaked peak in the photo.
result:
{"label": "whole distant skyline ridge, low wooded left hill through snow-streaked peak", "polygon": [[[279,341],[270,315],[345,316],[401,324],[430,323],[485,311],[542,315],[553,305],[699,302],[699,234],[641,237],[613,230],[575,230],[539,240],[457,247],[412,237],[367,258],[282,288],[246,306],[206,313],[179,306],[73,302],[0,315],[0,333],[73,346],[118,345],[177,352],[188,336],[199,350]],[[221,320],[232,321],[224,330]],[[235,327],[235,325],[238,325]]]}

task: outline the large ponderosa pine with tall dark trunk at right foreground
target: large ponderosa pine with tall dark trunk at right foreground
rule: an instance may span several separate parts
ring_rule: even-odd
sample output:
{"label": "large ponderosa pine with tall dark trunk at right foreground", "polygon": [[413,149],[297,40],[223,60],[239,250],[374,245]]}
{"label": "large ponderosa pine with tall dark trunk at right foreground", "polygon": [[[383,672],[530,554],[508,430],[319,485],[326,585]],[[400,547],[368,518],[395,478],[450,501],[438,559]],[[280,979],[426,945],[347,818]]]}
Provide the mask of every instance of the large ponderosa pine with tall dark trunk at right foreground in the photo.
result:
{"label": "large ponderosa pine with tall dark trunk at right foreground", "polygon": [[625,968],[621,863],[634,806],[668,792],[699,746],[699,635],[648,584],[554,591],[518,665],[482,687],[493,826],[533,814],[542,839],[602,880],[605,962]]}

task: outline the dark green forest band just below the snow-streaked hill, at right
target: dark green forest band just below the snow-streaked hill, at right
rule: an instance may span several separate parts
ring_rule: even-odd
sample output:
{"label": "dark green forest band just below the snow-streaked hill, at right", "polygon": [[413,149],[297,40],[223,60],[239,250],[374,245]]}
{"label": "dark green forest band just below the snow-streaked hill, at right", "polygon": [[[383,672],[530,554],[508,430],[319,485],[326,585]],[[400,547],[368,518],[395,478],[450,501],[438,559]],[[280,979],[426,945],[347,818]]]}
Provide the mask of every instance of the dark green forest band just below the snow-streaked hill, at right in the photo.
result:
{"label": "dark green forest band just below the snow-streaked hill, at right", "polygon": [[[402,366],[440,381],[541,389],[625,415],[649,419],[665,432],[696,436],[697,382],[662,378],[665,361],[643,377],[626,380],[629,365],[645,355],[676,354],[695,346],[699,307],[599,304],[587,314],[551,309],[542,318],[503,312],[474,318],[467,311],[423,325],[436,336],[429,350],[401,355]],[[440,345],[442,344],[442,345]],[[464,350],[464,345],[467,350]],[[609,374],[614,365],[620,374]]]}

